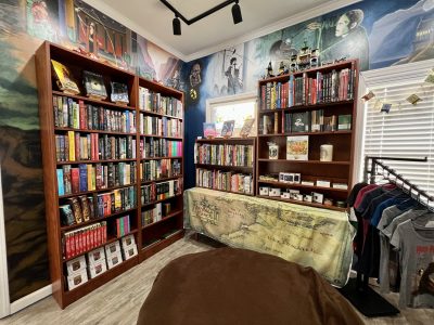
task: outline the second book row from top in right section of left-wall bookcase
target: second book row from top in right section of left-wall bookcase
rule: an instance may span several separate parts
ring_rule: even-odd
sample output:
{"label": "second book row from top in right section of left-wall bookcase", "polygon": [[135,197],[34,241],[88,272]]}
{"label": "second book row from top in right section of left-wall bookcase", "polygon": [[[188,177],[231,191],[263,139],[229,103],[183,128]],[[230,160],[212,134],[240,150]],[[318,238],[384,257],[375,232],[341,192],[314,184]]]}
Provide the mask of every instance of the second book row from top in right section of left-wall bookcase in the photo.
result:
{"label": "second book row from top in right section of left-wall bookcase", "polygon": [[156,117],[140,114],[140,134],[181,138],[182,121],[165,116]]}

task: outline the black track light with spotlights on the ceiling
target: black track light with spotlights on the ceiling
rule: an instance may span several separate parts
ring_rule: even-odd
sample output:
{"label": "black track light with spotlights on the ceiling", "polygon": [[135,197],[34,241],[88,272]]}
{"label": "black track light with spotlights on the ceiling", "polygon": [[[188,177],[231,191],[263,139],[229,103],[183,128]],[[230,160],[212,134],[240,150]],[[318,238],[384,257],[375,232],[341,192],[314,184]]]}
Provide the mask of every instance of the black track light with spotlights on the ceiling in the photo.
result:
{"label": "black track light with spotlights on the ceiling", "polygon": [[200,15],[191,18],[191,20],[187,20],[178,10],[176,10],[174,8],[174,5],[171,5],[167,0],[159,0],[161,2],[163,2],[164,5],[166,5],[174,14],[175,14],[175,18],[171,22],[171,25],[174,27],[174,35],[181,35],[181,21],[179,18],[182,20],[182,22],[184,22],[187,25],[191,25],[208,15],[210,15],[212,13],[215,13],[216,11],[219,11],[220,9],[234,3],[232,5],[232,18],[233,18],[233,24],[239,24],[243,21],[243,17],[241,15],[241,8],[239,3],[239,0],[227,0],[220,4],[217,4],[216,6],[205,11],[204,13],[201,13]]}

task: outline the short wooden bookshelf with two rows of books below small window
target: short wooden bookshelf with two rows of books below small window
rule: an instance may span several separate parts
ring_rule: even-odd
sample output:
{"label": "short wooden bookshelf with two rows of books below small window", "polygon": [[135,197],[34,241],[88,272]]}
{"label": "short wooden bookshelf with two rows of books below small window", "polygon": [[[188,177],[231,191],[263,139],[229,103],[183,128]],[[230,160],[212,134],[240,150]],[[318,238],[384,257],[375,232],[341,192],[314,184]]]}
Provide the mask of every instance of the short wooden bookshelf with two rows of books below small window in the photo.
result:
{"label": "short wooden bookshelf with two rows of books below small window", "polygon": [[255,138],[197,139],[196,186],[253,196],[255,150]]}

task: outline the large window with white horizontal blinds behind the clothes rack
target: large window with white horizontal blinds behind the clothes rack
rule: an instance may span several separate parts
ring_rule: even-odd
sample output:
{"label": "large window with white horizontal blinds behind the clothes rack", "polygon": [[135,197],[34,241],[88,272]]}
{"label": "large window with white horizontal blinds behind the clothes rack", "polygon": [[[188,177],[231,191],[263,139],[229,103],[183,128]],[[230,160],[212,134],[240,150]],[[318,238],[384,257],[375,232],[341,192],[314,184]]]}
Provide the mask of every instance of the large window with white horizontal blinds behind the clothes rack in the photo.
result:
{"label": "large window with white horizontal blinds behind the clothes rack", "polygon": [[[407,64],[367,74],[368,91],[375,98],[365,104],[362,150],[362,157],[427,157],[427,162],[384,160],[384,164],[431,195],[434,193],[434,86],[424,79],[432,66],[433,62]],[[381,80],[370,78],[373,74]],[[421,101],[412,105],[407,101],[411,94]],[[388,114],[381,112],[383,103],[392,104]]]}

